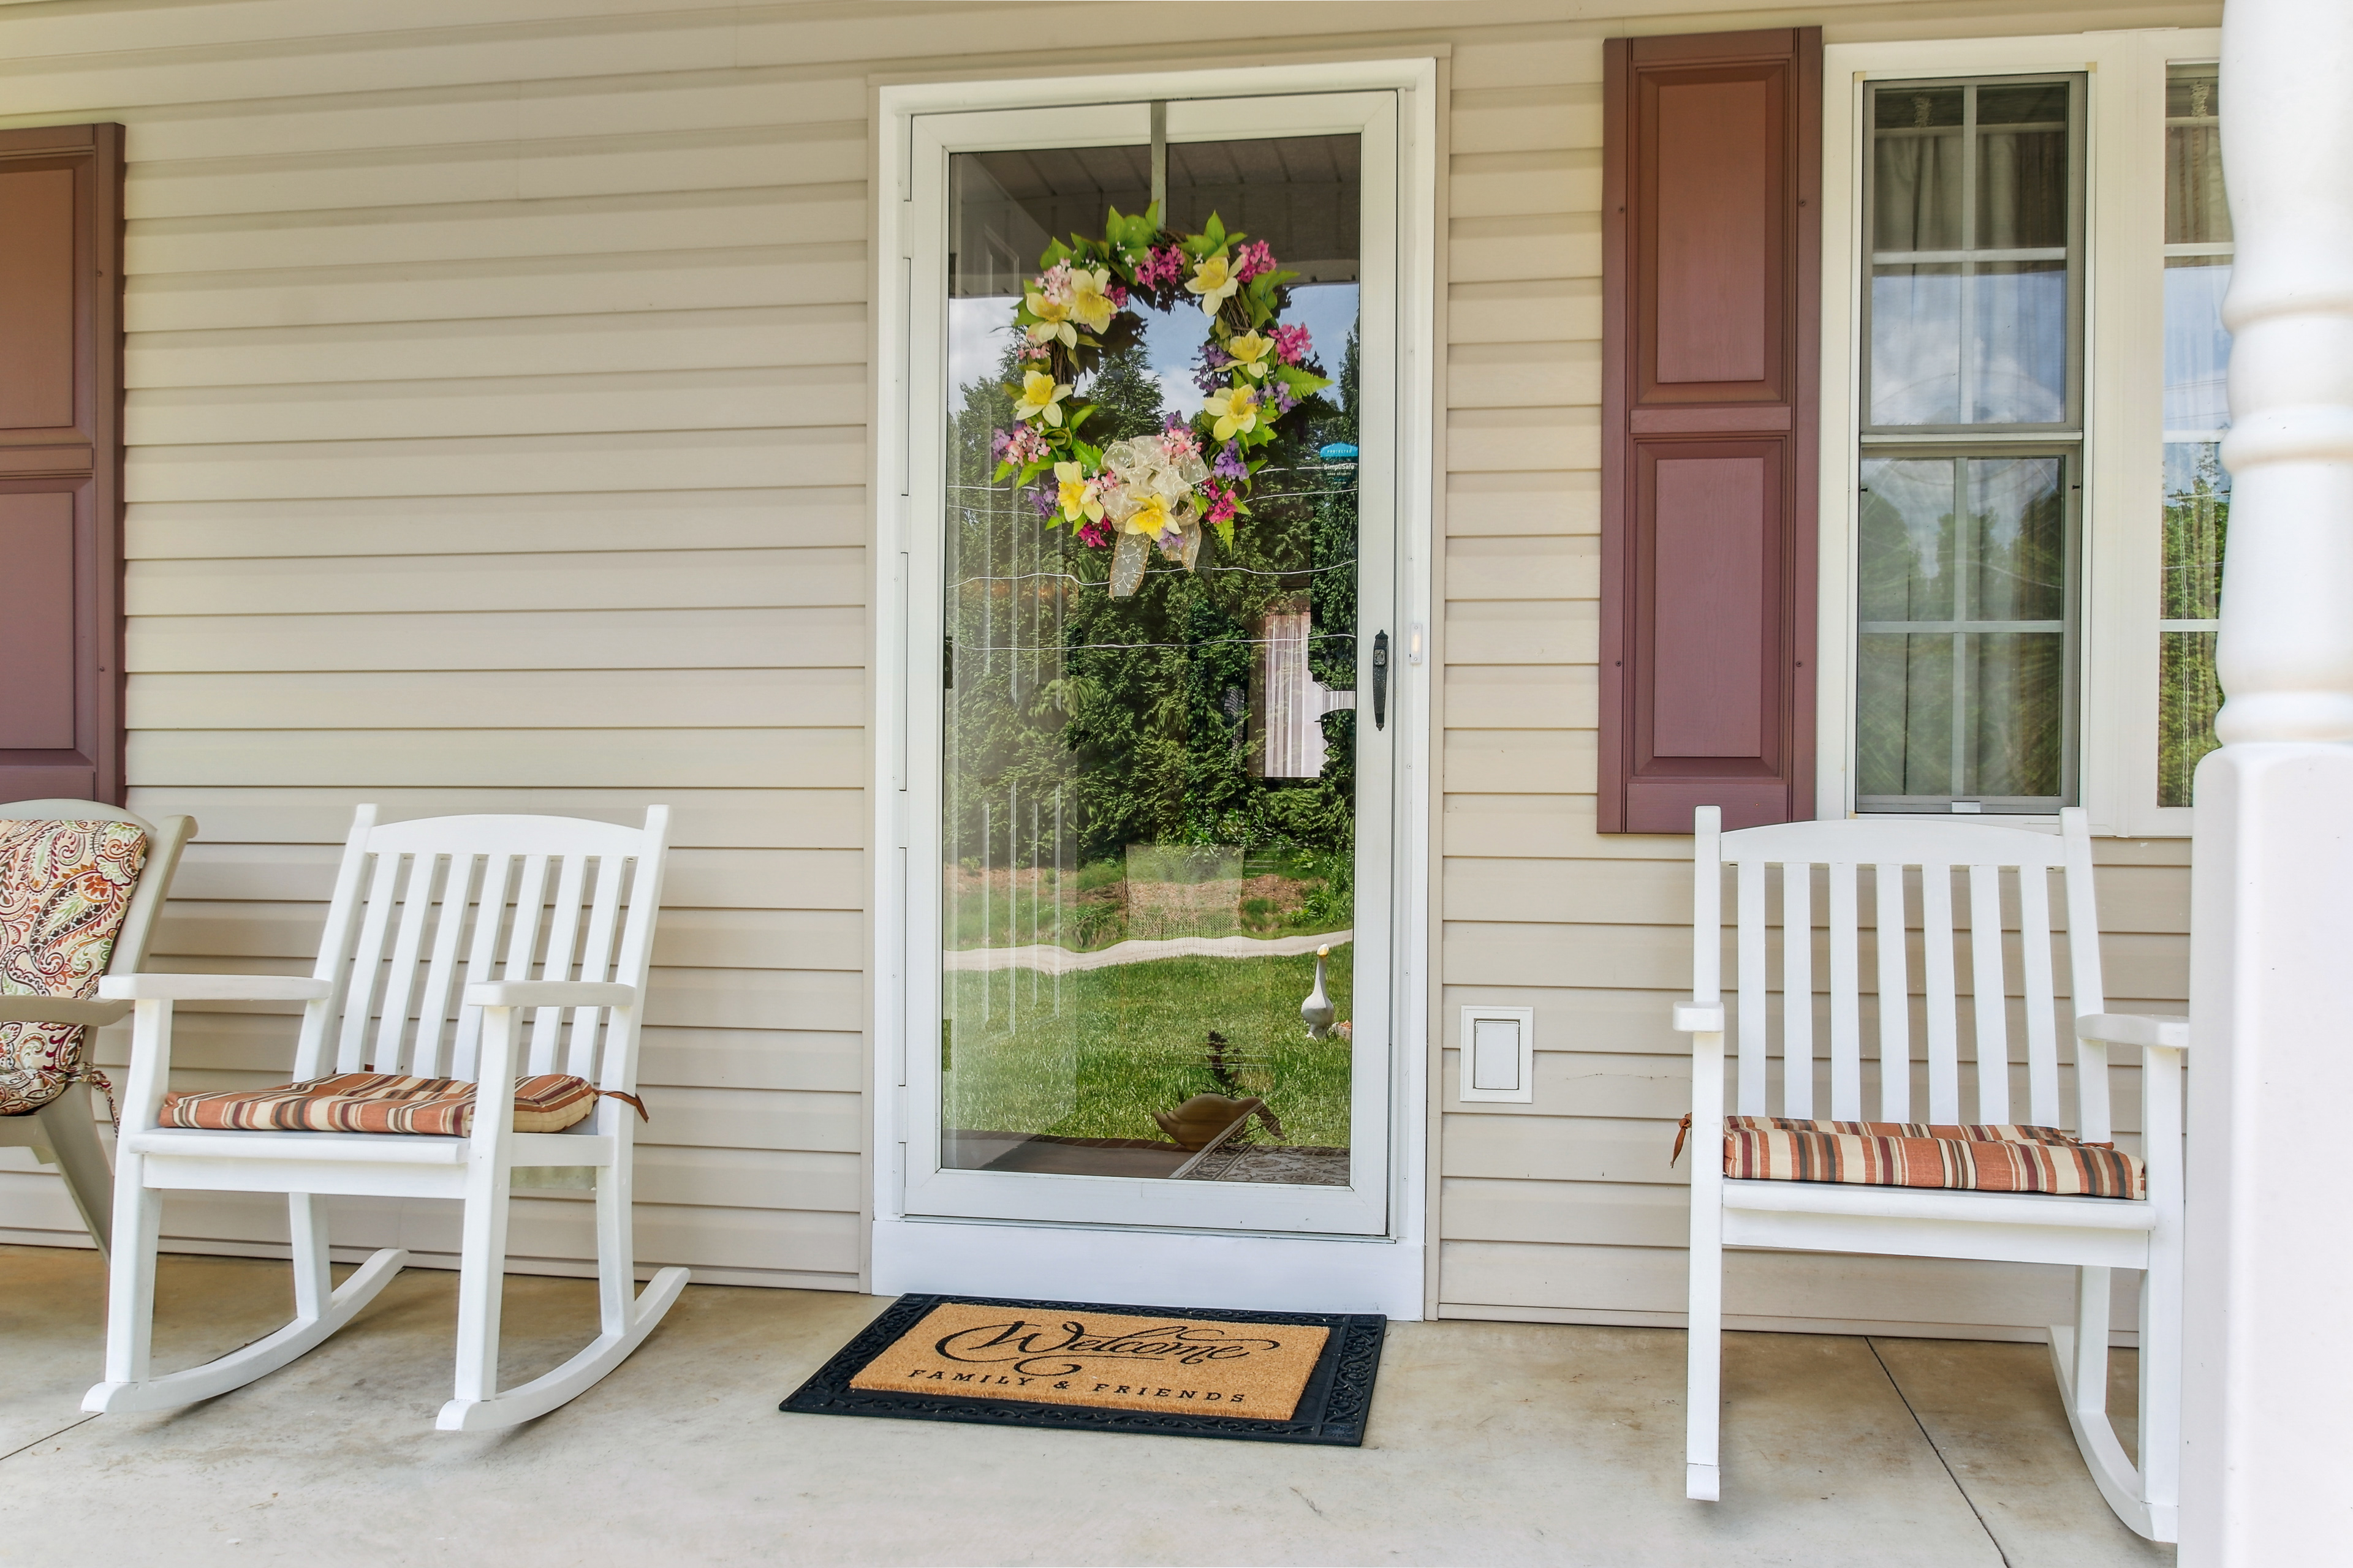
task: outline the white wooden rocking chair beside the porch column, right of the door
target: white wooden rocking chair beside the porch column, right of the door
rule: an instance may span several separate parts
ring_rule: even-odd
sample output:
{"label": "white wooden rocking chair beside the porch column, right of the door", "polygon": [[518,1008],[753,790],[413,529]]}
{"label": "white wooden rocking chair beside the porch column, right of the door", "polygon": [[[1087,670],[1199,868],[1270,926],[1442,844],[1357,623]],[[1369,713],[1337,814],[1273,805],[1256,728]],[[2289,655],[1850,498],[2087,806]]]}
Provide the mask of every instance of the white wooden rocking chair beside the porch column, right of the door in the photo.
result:
{"label": "white wooden rocking chair beside the porch column, right of the door", "polygon": [[[2104,1011],[2099,914],[2092,900],[2092,839],[2082,811],[2061,811],[2057,835],[1969,823],[1788,823],[1720,832],[1713,806],[1697,811],[1692,898],[1692,999],[1675,1027],[1692,1034],[1692,1338],[1687,1474],[1692,1497],[1718,1495],[1722,1248],[1760,1246],[1906,1258],[2057,1262],[2075,1269],[2075,1321],[2049,1331],[2052,1361],[2075,1443],[2118,1519],[2151,1540],[2174,1540],[2177,1446],[2181,1434],[2181,1051],[2188,1023]],[[2141,1053],[2141,1147],[2146,1197],[2057,1197],[1847,1180],[1758,1180],[1727,1175],[1725,1135],[1722,867],[1737,867],[1739,1058],[1734,1105],[1741,1117],[1814,1121],[1817,1088],[1828,1088],[1833,1121],[1861,1121],[1866,1107],[1864,900],[1873,900],[1878,997],[1878,1119],[1913,1119],[1913,976],[1925,992],[1927,1121],[1939,1138],[1962,1138],[1962,992],[1974,1041],[1977,1121],[2012,1124],[2012,1030],[2024,1025],[2026,1121],[2064,1128],[2061,1086],[2073,1079],[2082,1145],[2104,1145],[2108,1046]],[[1814,867],[1828,882],[1828,1058],[1814,1060]],[[1866,872],[1864,877],[1861,872]],[[1906,867],[1918,889],[1918,936],[1908,931]],[[1774,872],[1779,872],[1774,877]],[[1967,966],[1955,973],[1953,879],[1967,872]],[[2059,1001],[2052,985],[2049,872],[2066,884],[2066,943],[2075,1013],[2073,1070],[2059,1056]],[[1779,879],[1779,1030],[1767,1001],[1767,879]],[[1859,886],[1861,884],[1861,886]],[[2005,896],[2007,884],[2007,896]],[[2005,943],[2005,907],[2017,936]],[[1918,943],[1918,947],[1913,945]],[[2012,969],[2012,957],[2017,966]],[[1918,957],[1915,957],[1918,954]],[[1918,966],[1918,969],[1915,969]],[[2009,976],[2019,978],[2012,994]],[[1779,1110],[1772,1107],[1779,1058]],[[1819,1084],[1817,1079],[1826,1079]],[[1927,1131],[1927,1128],[1922,1128]],[[2005,1133],[2012,1128],[2002,1126]],[[2031,1128],[2028,1128],[2031,1131]],[[1744,1133],[1755,1138],[1758,1133]],[[2012,1133],[2014,1135],[2014,1133]],[[1868,1140],[1882,1147],[1878,1140]],[[1984,1138],[1981,1138],[1984,1143]],[[1755,1150],[1755,1143],[1744,1147]],[[1777,1145],[1795,1147],[1795,1145]],[[1807,1135],[1807,1150],[1826,1147]],[[1838,1145],[1845,1150],[1859,1143]],[[2017,1147],[2017,1145],[2012,1145]],[[1962,1154],[1939,1150],[1934,1154]],[[1969,1154],[1991,1154],[1967,1150]],[[2002,1152],[2009,1157],[2009,1152]],[[2038,1159],[2075,1161],[2040,1145]],[[2115,1154],[2082,1152],[2085,1164]],[[1744,1166],[1748,1168],[1748,1166]],[[2054,1185],[2059,1185],[2054,1180]],[[2108,1272],[2141,1276],[2141,1408],[2134,1467],[2108,1420]]]}

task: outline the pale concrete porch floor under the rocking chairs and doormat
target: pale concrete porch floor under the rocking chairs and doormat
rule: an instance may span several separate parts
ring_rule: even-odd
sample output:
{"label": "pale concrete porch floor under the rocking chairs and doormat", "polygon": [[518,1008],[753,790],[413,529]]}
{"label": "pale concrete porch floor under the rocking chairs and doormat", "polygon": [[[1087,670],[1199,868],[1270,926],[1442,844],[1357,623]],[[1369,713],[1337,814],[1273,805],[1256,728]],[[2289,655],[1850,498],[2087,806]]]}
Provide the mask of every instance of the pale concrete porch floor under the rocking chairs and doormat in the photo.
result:
{"label": "pale concrete porch floor under the rocking chairs and doormat", "polygon": [[[5,1563],[2172,1563],[2101,1505],[2035,1345],[1727,1335],[1720,1505],[1682,1500],[1682,1335],[1400,1324],[1362,1448],[779,1415],[882,1309],[689,1286],[572,1406],[440,1434],[456,1276],[174,1415],[85,1418],[94,1253],[0,1248]],[[158,1366],[275,1328],[285,1265],[167,1258]],[[506,1380],[593,1286],[515,1276]],[[2118,1359],[2129,1408],[2129,1356]]]}

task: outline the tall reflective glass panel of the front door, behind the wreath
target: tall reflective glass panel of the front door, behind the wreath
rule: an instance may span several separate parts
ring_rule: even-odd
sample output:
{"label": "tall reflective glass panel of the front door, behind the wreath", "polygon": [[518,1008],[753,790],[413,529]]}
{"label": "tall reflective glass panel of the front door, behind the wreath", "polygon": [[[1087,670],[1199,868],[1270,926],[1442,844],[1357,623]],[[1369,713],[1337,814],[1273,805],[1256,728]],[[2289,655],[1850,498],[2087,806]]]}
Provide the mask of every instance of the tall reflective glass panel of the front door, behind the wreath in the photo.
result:
{"label": "tall reflective glass panel of the front door, behind the wreath", "polygon": [[1214,216],[1297,273],[1287,357],[1332,386],[1285,393],[1273,444],[1221,451],[1195,425],[1233,378],[1207,317],[1139,308],[1071,393],[1085,440],[1198,430],[1205,463],[1264,468],[1231,538],[1155,550],[1118,592],[1118,520],[1054,527],[1059,484],[1024,491],[1000,458],[1042,252],[1141,214],[1151,146],[944,150],[939,1060],[911,1187],[944,1213],[1377,1229],[1388,741],[1360,607],[1388,592],[1391,531],[1360,487],[1365,134],[1165,155],[1162,226]]}

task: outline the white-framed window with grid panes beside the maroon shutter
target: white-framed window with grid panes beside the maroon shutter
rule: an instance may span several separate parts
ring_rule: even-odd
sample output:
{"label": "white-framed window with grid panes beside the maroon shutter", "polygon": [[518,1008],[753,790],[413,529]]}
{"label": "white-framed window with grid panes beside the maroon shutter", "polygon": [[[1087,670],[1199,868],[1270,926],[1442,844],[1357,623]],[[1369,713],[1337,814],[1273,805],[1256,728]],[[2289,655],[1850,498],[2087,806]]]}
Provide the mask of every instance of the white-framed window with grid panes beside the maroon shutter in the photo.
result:
{"label": "white-framed window with grid panes beside the maroon shutter", "polygon": [[1821,816],[2188,832],[2228,527],[2217,47],[1826,49]]}

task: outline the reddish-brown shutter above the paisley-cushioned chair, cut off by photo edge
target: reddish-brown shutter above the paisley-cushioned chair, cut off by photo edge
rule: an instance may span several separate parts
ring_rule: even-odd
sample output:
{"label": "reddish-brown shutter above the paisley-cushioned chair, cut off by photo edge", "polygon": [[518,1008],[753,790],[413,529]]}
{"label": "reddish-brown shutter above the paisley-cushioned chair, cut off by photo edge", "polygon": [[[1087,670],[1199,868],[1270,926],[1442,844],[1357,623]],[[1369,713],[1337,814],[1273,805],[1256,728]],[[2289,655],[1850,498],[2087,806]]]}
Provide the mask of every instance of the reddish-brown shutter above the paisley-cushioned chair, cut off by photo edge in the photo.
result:
{"label": "reddish-brown shutter above the paisley-cushioned chair, cut off by photo edge", "polygon": [[122,802],[122,127],[0,132],[0,799]]}

